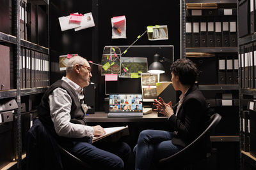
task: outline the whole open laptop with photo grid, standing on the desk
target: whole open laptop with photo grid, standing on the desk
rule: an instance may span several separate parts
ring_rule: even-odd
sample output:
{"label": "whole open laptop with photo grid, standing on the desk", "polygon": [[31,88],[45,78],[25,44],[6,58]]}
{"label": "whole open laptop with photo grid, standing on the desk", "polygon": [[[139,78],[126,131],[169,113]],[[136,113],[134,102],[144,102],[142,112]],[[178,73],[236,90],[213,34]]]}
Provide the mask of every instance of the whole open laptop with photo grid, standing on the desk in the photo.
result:
{"label": "whole open laptop with photo grid, standing on the desk", "polygon": [[109,94],[108,117],[143,117],[142,94]]}

